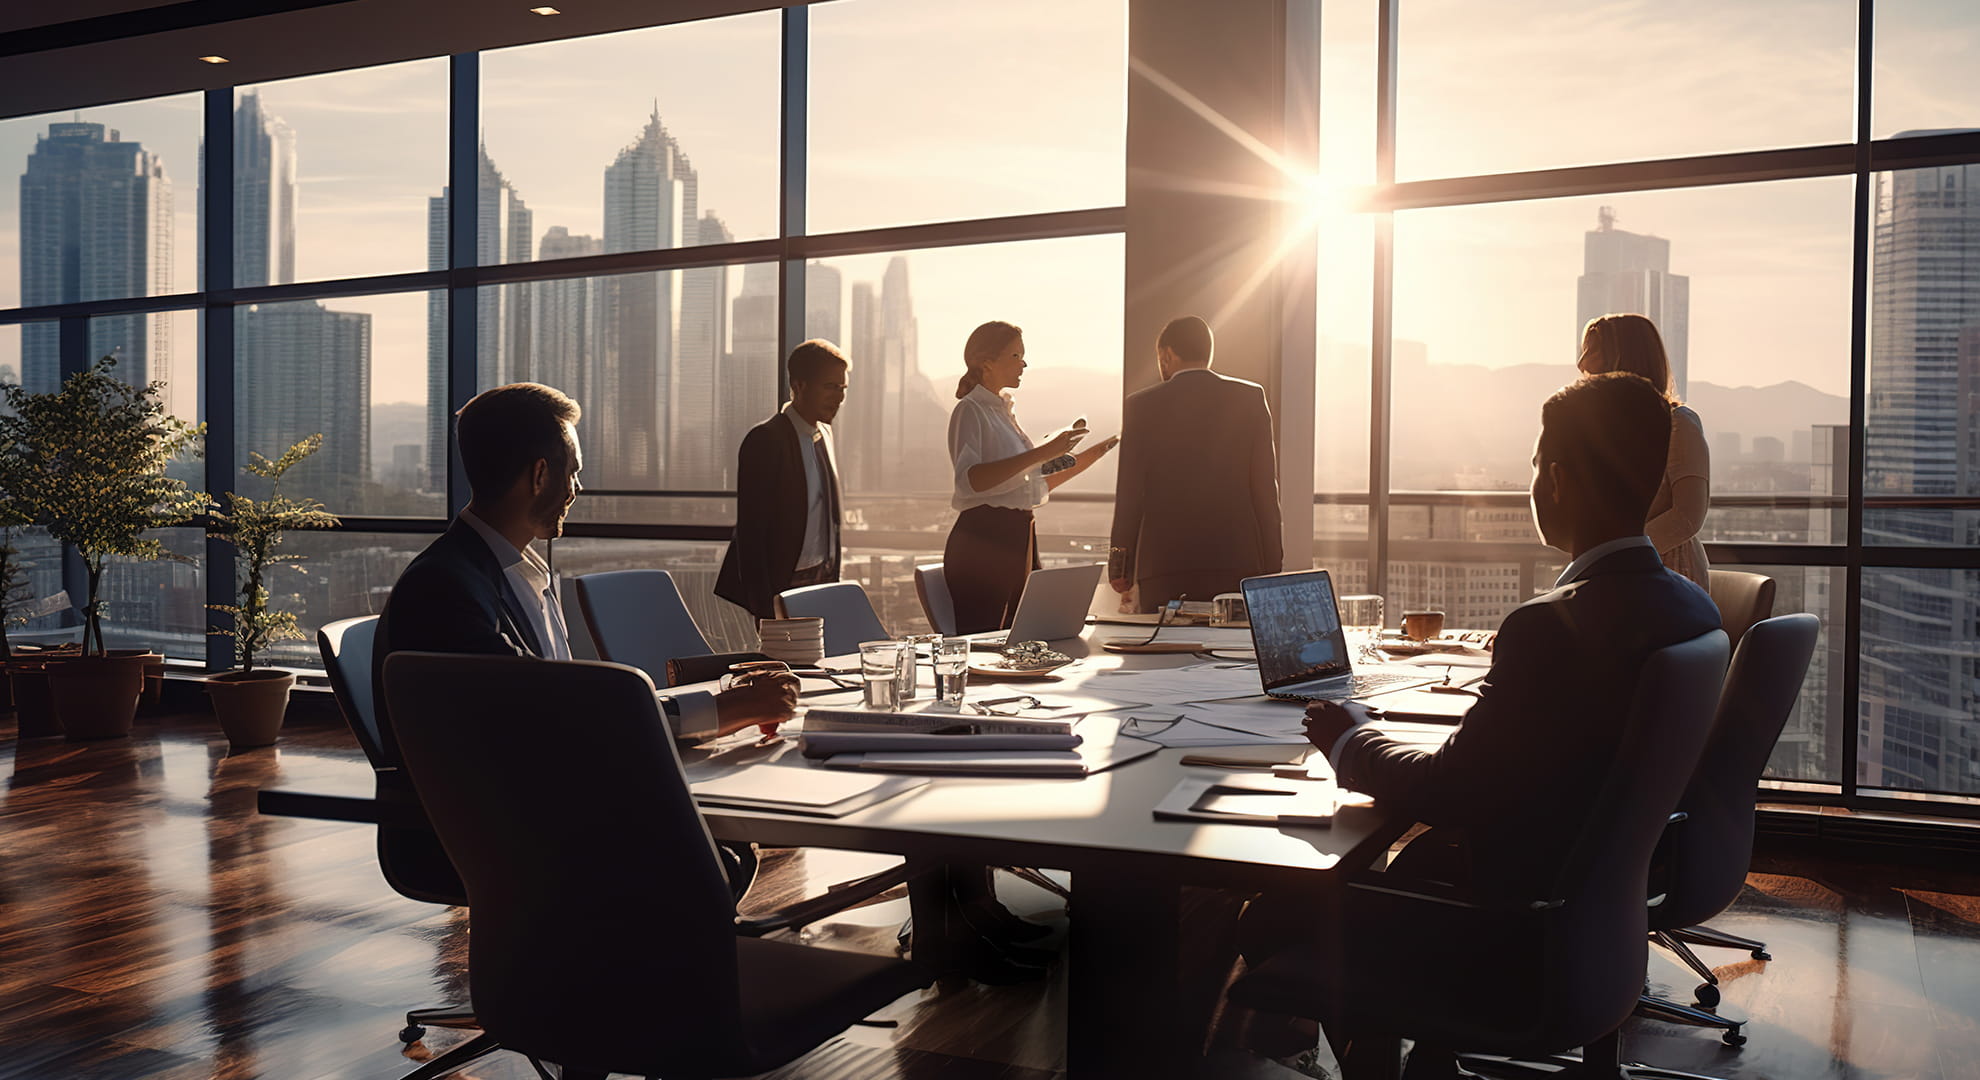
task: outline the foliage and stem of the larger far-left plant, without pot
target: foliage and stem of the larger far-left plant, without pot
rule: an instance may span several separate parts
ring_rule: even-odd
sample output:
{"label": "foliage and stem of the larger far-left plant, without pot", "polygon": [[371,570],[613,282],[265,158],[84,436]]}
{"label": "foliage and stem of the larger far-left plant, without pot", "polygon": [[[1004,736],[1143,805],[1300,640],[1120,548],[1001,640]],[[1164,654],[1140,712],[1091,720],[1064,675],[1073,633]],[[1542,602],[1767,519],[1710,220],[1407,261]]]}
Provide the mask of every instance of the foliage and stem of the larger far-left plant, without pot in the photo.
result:
{"label": "foliage and stem of the larger far-left plant, without pot", "polygon": [[12,412],[0,416],[10,513],[81,555],[89,591],[83,652],[103,656],[103,567],[113,555],[168,557],[145,533],[184,525],[212,501],[164,476],[180,454],[198,454],[206,426],[164,410],[164,382],[117,378],[115,357],[71,375],[55,392],[0,392]]}

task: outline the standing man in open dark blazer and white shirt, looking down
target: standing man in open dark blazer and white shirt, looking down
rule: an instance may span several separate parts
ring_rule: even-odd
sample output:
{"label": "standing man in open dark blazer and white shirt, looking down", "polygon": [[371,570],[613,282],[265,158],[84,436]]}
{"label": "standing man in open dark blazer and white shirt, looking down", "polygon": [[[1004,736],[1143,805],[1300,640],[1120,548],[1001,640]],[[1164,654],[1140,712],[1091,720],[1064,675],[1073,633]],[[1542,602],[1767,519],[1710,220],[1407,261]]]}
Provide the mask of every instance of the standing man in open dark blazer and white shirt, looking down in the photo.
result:
{"label": "standing man in open dark blazer and white shirt, looking down", "polygon": [[737,529],[715,594],[776,618],[776,594],[840,579],[840,470],[832,420],[851,365],[814,337],[790,351],[790,404],[737,454]]}

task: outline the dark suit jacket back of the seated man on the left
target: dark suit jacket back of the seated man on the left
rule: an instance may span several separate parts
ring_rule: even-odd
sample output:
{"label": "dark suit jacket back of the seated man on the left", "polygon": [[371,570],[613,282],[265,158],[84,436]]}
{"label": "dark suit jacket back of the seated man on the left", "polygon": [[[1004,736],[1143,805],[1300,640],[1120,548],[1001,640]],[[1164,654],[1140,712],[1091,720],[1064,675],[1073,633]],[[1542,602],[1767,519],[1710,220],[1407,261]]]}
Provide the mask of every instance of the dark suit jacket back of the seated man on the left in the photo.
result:
{"label": "dark suit jacket back of the seated man on the left", "polygon": [[517,606],[495,551],[467,521],[455,517],[412,559],[378,616],[372,702],[388,765],[398,765],[398,739],[384,702],[384,658],[396,650],[543,656],[543,644]]}

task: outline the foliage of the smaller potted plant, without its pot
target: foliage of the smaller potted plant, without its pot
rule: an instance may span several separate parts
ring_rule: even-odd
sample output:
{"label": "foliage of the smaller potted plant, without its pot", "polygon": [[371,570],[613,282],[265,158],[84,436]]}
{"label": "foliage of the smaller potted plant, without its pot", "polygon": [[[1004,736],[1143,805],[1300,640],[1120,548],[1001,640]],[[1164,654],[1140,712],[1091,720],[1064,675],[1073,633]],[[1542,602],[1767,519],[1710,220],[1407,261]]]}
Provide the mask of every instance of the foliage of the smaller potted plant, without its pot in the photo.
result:
{"label": "foliage of the smaller potted plant, without its pot", "polygon": [[339,525],[337,515],[327,511],[317,499],[299,499],[281,489],[283,474],[319,448],[323,448],[323,434],[313,434],[297,442],[273,462],[249,452],[248,472],[271,484],[269,495],[265,499],[249,499],[248,495],[228,491],[226,501],[212,511],[216,527],[208,535],[232,543],[242,555],[242,602],[206,604],[208,610],[234,616],[232,626],[214,626],[208,634],[234,638],[234,656],[240,660],[244,672],[251,672],[255,658],[275,642],[303,638],[303,632],[295,628],[295,612],[269,606],[265,577],[277,565],[287,565],[299,575],[309,573],[297,565],[303,561],[303,555],[277,555],[275,549],[281,547],[283,533],[289,529],[335,529]]}

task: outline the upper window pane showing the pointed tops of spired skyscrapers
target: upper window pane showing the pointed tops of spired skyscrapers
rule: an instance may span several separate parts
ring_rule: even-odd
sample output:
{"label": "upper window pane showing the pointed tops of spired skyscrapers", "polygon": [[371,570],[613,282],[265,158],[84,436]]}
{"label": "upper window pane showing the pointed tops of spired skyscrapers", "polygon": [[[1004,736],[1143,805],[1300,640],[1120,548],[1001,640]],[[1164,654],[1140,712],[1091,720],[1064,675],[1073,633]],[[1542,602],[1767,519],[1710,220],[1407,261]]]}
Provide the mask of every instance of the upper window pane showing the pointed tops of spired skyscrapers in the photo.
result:
{"label": "upper window pane showing the pointed tops of spired skyscrapers", "polygon": [[774,236],[780,69],[776,12],[481,54],[479,262]]}

